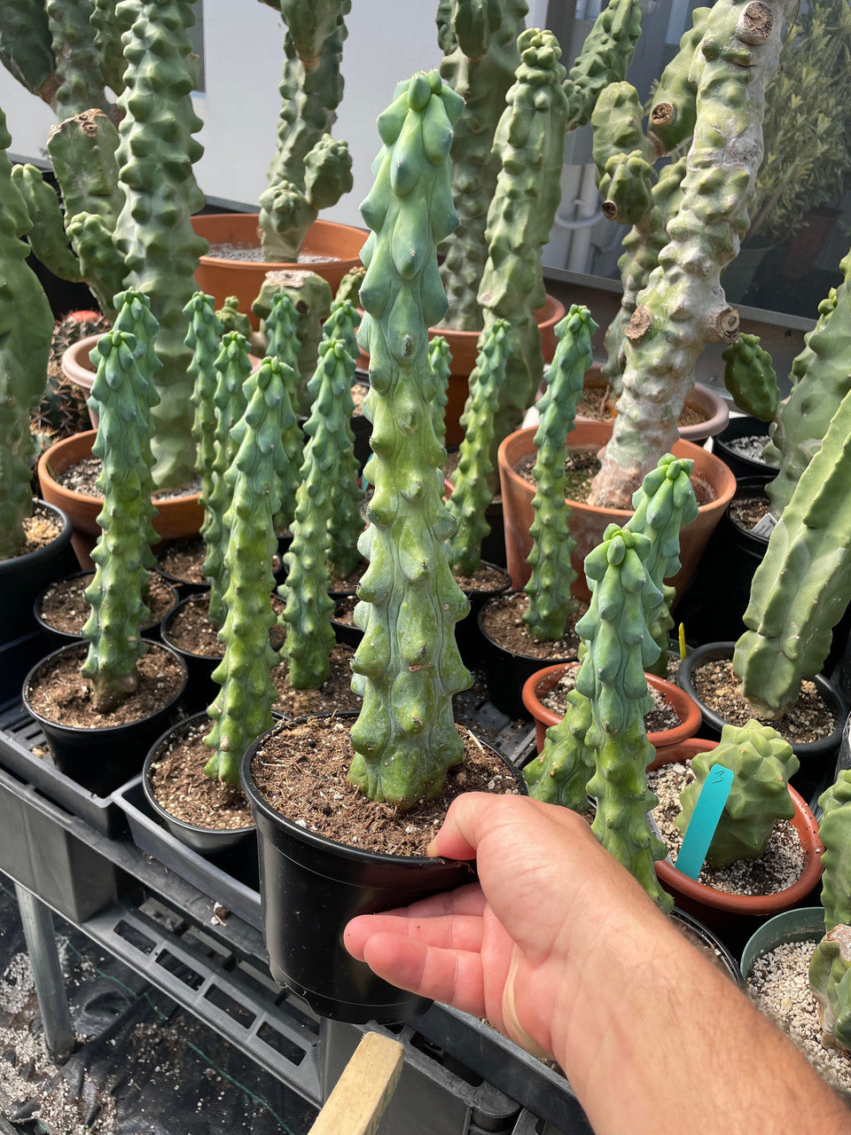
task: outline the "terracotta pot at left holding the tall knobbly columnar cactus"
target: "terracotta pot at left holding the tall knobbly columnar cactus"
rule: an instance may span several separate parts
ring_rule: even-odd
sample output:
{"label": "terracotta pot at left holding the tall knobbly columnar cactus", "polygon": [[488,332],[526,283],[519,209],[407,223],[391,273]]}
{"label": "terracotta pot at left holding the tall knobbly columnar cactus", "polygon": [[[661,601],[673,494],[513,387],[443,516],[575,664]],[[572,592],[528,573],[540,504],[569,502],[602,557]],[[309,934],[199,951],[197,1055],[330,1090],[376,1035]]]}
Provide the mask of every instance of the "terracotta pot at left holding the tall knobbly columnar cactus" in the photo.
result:
{"label": "terracotta pot at left holding the tall knobbly columnar cactus", "polygon": [[[62,438],[39,459],[39,484],[41,494],[49,504],[54,504],[65,512],[74,526],[71,545],[79,566],[93,568],[89,554],[100,536],[98,516],[103,507],[103,497],[86,496],[65,488],[56,478],[77,461],[92,455],[92,445],[98,431],[90,429],[84,434]],[[157,501],[157,515],[153,527],[163,540],[176,540],[184,536],[197,536],[201,521],[204,518],[199,504],[199,493],[172,497],[169,501]]]}

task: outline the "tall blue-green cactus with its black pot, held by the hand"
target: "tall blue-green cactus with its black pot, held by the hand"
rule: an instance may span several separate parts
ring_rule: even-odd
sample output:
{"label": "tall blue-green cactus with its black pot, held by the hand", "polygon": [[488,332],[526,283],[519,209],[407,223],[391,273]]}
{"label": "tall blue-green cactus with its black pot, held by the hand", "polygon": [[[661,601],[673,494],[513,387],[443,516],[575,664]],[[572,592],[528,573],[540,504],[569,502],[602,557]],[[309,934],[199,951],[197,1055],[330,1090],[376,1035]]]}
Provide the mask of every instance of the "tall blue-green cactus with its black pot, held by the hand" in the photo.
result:
{"label": "tall blue-green cactus with its black pot, held by the hand", "polygon": [[[495,754],[462,735],[452,711],[452,696],[469,682],[453,636],[466,600],[446,553],[454,523],[441,499],[444,451],[435,435],[428,327],[446,306],[436,245],[456,224],[447,157],[460,111],[460,98],[437,72],[401,84],[379,118],[384,149],[363,204],[373,227],[364,247],[361,335],[371,358],[365,411],[373,453],[365,473],[374,487],[369,527],[359,540],[369,560],[355,616],[364,637],[353,661],[363,706],[351,725],[328,718],[276,726],[247,750],[242,766],[260,838],[272,974],[318,1011],[352,1020],[404,1019],[424,1004],[346,955],[343,922],[355,910],[386,909],[471,877],[466,865],[426,859],[421,842],[403,842],[406,834],[421,841],[431,830],[413,806],[436,801],[441,809],[441,793],[457,790],[458,776],[472,787],[480,756],[499,788],[516,788]],[[269,777],[307,775],[317,764],[311,755],[321,762],[322,784],[313,791],[302,779],[294,802],[293,782],[287,790]],[[334,789],[332,767],[339,770]],[[344,846],[346,836],[336,829],[330,838],[313,831],[320,823],[313,816],[298,823],[298,812],[314,801],[332,822],[338,798],[348,818],[364,817],[368,827],[378,813],[389,817],[384,846],[397,854],[370,849],[362,830]],[[275,882],[284,869],[286,900]],[[289,911],[302,891],[305,901],[314,893],[317,872],[327,888],[325,924],[309,935],[304,925],[296,930]]]}

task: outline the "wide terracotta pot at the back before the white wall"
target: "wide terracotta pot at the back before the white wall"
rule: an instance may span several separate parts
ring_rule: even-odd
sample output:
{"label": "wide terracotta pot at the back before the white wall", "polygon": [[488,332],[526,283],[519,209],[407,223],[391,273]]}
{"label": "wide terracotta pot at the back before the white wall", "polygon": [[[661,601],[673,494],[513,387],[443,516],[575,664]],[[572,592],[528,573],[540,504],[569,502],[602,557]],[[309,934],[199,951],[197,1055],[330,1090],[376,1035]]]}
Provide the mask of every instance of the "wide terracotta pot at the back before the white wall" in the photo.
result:
{"label": "wide terracotta pot at the back before the white wall", "polygon": [[[201,213],[192,218],[192,227],[211,245],[243,244],[259,247],[258,218],[259,213]],[[361,249],[368,236],[365,229],[355,228],[353,225],[317,220],[307,229],[302,254],[327,257],[327,260],[286,263],[222,260],[219,257],[207,255],[201,257],[195,283],[216,300],[217,308],[221,308],[229,295],[235,295],[239,301],[239,311],[245,312],[251,326],[258,330],[260,320],[251,310],[251,305],[263,286],[267,272],[306,269],[327,279],[331,291],[336,292],[346,272],[360,264]]]}

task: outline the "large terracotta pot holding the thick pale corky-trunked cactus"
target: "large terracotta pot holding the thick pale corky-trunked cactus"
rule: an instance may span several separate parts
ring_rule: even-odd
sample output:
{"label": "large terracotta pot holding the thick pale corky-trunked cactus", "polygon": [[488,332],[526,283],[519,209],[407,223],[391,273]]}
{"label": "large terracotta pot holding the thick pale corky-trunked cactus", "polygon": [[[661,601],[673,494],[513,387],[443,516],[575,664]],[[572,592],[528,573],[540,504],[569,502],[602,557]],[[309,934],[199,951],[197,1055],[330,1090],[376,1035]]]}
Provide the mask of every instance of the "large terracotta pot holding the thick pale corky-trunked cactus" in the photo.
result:
{"label": "large terracotta pot holding the thick pale corky-trunked cactus", "polygon": [[[576,421],[575,428],[567,435],[566,444],[571,448],[591,446],[599,449],[612,436],[612,424],[605,422]],[[534,486],[514,471],[514,466],[525,456],[534,453],[532,438],[534,427],[515,430],[499,446],[497,461],[499,465],[499,484],[503,494],[503,515],[505,518],[505,552],[508,574],[512,585],[521,589],[525,586],[530,568],[526,557],[532,548],[529,529],[534,515],[532,496]],[[735,491],[735,478],[723,461],[707,453],[691,442],[677,442],[674,446],[675,457],[691,457],[694,462],[693,478],[706,485],[711,494],[708,504],[701,504],[697,518],[685,524],[680,532],[680,562],[682,566],[673,579],[667,580],[674,587],[676,599],[685,590],[698,565],[701,553],[724,514],[724,510]],[[571,506],[570,528],[576,548],[571,557],[576,572],[573,595],[588,603],[591,592],[585,583],[583,564],[588,553],[597,547],[608,524],[624,524],[632,515],[627,508],[604,508],[568,501]]]}

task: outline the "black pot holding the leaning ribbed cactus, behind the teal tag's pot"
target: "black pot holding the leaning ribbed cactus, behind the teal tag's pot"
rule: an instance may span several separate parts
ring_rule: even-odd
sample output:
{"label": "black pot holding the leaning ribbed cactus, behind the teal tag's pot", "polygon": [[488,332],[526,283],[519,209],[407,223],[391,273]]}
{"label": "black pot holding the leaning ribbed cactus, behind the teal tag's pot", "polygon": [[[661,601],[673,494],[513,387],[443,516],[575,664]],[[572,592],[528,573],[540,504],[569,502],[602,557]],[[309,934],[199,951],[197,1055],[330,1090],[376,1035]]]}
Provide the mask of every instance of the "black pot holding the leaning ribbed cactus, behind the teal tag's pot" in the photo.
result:
{"label": "black pot holding the leaning ribbed cactus, behind the teal tag's pot", "polygon": [[[718,740],[724,728],[724,718],[714,713],[709,706],[701,701],[699,695],[692,686],[691,675],[694,670],[706,662],[716,662],[719,658],[732,658],[734,642],[707,642],[697,647],[681,663],[676,673],[677,686],[691,695],[700,706],[703,718],[701,737],[708,740]],[[848,718],[848,706],[844,699],[831,686],[823,674],[817,674],[812,682],[826,705],[833,711],[836,718],[836,726],[828,737],[823,737],[818,741],[793,743],[792,750],[800,762],[800,767],[794,776],[790,777],[790,784],[803,799],[812,807],[812,802],[820,793],[833,783],[833,774],[836,765],[836,757],[842,742],[842,733]]]}

